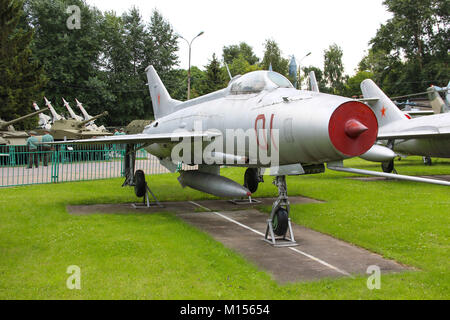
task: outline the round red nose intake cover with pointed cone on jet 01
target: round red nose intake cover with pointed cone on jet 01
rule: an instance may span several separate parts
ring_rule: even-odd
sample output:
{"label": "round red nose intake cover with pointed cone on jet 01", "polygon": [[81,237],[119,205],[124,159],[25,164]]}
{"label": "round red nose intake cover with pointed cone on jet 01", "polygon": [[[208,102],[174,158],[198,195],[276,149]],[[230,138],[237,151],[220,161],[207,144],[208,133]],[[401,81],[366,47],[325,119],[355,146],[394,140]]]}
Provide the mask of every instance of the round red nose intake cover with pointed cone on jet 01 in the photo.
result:
{"label": "round red nose intake cover with pointed cone on jet 01", "polygon": [[378,121],[364,103],[349,101],[334,110],[328,124],[331,143],[345,156],[357,157],[367,152],[378,135]]}

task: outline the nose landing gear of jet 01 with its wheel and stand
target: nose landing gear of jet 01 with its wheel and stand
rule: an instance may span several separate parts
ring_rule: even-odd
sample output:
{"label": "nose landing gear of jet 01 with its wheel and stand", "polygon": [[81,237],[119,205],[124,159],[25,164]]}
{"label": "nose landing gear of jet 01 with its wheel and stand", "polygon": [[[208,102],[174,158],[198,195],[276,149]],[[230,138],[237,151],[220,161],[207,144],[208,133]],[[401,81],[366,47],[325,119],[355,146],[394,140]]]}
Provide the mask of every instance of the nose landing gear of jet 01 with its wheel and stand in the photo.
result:
{"label": "nose landing gear of jet 01 with its wheel and stand", "polygon": [[286,176],[275,177],[273,184],[278,187],[278,198],[272,206],[270,218],[267,220],[264,241],[274,247],[297,246],[289,218],[290,204],[287,195]]}

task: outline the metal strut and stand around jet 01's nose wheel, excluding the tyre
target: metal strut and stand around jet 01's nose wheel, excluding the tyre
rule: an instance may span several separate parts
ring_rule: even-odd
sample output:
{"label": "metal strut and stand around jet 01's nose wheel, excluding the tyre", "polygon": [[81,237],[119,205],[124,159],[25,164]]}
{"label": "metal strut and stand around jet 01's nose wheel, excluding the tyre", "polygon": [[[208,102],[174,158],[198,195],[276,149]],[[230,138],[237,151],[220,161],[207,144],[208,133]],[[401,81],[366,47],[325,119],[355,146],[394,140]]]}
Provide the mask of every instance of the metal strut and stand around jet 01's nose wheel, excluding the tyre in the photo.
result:
{"label": "metal strut and stand around jet 01's nose wheel, excluding the tyre", "polygon": [[275,232],[273,231],[273,219],[275,213],[279,208],[284,208],[289,217],[290,213],[290,204],[287,196],[287,185],[286,185],[286,177],[285,176],[277,176],[273,184],[278,187],[278,198],[274,202],[272,206],[272,212],[270,213],[270,218],[267,219],[267,228],[266,234],[264,236],[264,241],[270,243],[274,247],[294,247],[298,246],[298,243],[295,241],[294,232],[292,231],[291,219],[288,218],[288,228],[284,235],[275,236]]}

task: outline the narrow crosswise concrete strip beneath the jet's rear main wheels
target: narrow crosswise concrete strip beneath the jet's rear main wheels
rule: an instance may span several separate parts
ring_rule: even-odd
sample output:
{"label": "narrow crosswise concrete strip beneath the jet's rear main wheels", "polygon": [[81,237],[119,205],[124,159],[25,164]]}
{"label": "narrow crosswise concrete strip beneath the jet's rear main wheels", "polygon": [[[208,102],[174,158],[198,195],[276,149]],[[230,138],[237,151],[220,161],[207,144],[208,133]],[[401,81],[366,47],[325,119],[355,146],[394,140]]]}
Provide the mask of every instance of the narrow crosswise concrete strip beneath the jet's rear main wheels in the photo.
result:
{"label": "narrow crosswise concrete strip beneath the jet's rear main wheels", "polygon": [[[247,203],[247,204],[233,204],[227,200],[203,200],[198,201],[196,203],[204,206],[210,210],[219,210],[219,211],[233,211],[233,210],[242,210],[243,208],[249,209],[253,208],[257,205],[272,205],[275,201],[275,198],[256,198],[259,203]],[[290,197],[289,201],[292,204],[299,203],[315,203],[320,202],[318,200],[314,200],[306,197]],[[201,207],[195,205],[189,201],[176,201],[176,202],[163,202],[163,208],[154,206],[151,208],[139,208],[134,209],[131,203],[118,203],[118,204],[94,204],[94,205],[78,205],[78,206],[67,206],[67,211],[69,214],[73,215],[88,215],[88,214],[114,214],[114,213],[142,213],[149,214],[155,212],[194,212],[201,211]]]}

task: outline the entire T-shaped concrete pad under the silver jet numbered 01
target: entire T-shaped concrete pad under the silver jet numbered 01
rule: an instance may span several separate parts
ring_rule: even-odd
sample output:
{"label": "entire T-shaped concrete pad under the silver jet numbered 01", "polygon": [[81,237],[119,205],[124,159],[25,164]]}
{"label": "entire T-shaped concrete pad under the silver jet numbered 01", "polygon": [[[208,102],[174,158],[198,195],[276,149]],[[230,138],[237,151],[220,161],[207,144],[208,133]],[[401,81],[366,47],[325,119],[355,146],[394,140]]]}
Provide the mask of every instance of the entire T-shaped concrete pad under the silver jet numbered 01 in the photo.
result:
{"label": "entire T-shaped concrete pad under the silver jet numbered 01", "polygon": [[[204,200],[164,202],[164,208],[134,209],[125,203],[67,206],[67,210],[74,215],[174,212],[272,274],[280,283],[365,275],[371,265],[380,267],[382,274],[408,269],[380,255],[295,224],[292,227],[299,245],[275,248],[263,241],[269,216],[255,209],[261,204],[271,205],[275,198],[257,200],[261,203],[235,205],[227,200]],[[289,200],[292,204],[320,202],[305,197],[289,197]]]}

